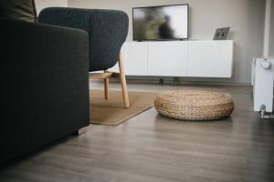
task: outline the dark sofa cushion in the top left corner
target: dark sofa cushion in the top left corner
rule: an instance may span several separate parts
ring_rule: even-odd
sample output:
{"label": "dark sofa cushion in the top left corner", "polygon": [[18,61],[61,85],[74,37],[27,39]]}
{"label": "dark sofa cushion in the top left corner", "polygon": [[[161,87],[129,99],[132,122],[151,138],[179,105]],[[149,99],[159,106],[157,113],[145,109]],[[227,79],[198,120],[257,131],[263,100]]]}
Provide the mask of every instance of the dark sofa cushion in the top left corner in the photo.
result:
{"label": "dark sofa cushion in the top left corner", "polygon": [[0,19],[37,22],[35,0],[1,0]]}

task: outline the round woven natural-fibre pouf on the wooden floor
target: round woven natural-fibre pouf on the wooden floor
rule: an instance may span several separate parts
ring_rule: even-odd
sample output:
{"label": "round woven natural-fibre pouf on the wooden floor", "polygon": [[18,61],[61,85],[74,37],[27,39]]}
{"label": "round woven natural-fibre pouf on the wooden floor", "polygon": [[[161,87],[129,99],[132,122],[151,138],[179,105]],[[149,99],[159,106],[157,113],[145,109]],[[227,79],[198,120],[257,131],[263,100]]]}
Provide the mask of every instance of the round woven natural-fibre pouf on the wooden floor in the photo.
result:
{"label": "round woven natural-fibre pouf on the wooden floor", "polygon": [[231,96],[220,92],[178,90],[159,94],[154,106],[163,116],[208,121],[230,116],[234,110],[234,101]]}

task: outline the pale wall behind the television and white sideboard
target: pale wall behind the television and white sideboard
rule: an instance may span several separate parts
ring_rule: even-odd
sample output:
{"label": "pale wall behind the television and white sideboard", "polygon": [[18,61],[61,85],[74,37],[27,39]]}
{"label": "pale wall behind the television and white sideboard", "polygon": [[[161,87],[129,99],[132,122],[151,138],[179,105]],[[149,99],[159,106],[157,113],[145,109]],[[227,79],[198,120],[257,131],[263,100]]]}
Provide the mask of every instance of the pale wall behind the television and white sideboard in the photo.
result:
{"label": "pale wall behind the television and white sideboard", "polygon": [[235,40],[234,76],[217,81],[250,83],[252,58],[263,54],[265,0],[68,0],[71,7],[125,11],[130,17],[128,41],[132,41],[132,7],[182,3],[190,5],[192,39],[212,39],[217,27],[231,27],[228,38]]}

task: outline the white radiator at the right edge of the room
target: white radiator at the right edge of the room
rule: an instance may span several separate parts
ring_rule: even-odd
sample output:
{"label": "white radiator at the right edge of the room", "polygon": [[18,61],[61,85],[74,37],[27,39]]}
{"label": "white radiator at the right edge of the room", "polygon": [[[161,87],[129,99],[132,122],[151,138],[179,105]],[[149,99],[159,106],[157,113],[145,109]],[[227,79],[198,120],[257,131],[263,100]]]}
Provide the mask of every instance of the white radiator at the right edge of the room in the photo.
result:
{"label": "white radiator at the right edge of the room", "polygon": [[252,66],[254,110],[273,110],[274,59],[255,58]]}

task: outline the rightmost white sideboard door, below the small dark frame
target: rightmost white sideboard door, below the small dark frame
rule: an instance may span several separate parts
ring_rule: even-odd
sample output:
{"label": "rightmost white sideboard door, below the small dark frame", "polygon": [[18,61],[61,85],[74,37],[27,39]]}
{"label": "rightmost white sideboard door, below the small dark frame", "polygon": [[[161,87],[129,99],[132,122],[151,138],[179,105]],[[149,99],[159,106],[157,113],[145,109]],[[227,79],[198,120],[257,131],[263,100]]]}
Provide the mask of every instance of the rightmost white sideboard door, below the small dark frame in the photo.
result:
{"label": "rightmost white sideboard door, below the small dark frame", "polygon": [[232,76],[233,41],[190,41],[188,46],[188,76]]}

